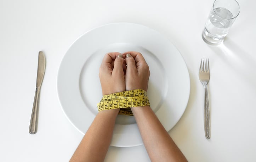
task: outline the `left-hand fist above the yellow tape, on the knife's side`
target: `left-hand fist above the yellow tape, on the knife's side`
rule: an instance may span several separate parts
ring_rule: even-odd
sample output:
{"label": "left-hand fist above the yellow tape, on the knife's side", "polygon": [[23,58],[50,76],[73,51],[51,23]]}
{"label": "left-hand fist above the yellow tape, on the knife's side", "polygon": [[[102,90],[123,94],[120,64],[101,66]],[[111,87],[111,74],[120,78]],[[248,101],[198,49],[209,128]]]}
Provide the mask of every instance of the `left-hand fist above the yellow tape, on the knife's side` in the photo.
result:
{"label": "left-hand fist above the yellow tape, on the knife's side", "polygon": [[104,56],[99,68],[102,95],[125,91],[124,57],[119,52]]}

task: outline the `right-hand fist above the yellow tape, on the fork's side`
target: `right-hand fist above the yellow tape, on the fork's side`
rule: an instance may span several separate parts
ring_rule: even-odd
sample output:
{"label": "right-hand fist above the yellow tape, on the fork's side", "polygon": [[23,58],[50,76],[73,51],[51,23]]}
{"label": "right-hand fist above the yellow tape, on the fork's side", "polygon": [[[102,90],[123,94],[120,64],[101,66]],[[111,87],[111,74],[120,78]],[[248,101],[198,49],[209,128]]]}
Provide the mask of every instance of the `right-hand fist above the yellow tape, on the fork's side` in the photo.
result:
{"label": "right-hand fist above the yellow tape, on the fork's side", "polygon": [[126,72],[125,72],[125,89],[130,91],[132,89],[148,90],[149,67],[144,57],[139,52],[129,51],[126,55]]}

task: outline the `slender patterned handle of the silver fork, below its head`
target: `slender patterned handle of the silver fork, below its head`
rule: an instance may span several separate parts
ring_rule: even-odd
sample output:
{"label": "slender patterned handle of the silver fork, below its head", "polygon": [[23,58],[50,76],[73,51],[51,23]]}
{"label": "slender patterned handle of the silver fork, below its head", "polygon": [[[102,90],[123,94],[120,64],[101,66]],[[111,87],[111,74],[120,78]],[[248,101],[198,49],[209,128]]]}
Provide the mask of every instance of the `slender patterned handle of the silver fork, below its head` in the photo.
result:
{"label": "slender patterned handle of the silver fork, below its head", "polygon": [[207,85],[204,86],[204,132],[207,139],[210,138],[210,110]]}

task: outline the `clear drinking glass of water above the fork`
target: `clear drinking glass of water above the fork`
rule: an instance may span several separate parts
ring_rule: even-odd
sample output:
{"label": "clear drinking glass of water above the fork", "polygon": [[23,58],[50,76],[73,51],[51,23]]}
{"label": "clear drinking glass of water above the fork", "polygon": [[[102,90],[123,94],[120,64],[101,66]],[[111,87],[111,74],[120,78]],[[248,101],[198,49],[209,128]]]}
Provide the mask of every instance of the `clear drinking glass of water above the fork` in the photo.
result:
{"label": "clear drinking glass of water above the fork", "polygon": [[236,0],[215,0],[202,32],[203,40],[210,45],[219,45],[240,12]]}

